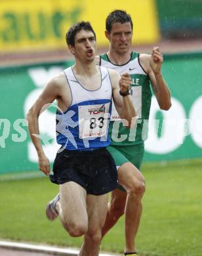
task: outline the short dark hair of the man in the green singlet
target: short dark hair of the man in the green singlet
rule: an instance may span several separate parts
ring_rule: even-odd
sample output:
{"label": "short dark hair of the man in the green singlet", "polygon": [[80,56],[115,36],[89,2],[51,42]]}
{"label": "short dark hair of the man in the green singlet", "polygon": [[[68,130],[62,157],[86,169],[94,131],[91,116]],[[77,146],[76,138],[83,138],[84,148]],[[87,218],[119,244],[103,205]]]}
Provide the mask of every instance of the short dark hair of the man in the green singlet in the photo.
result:
{"label": "short dark hair of the man in the green singlet", "polygon": [[133,28],[131,15],[128,14],[126,11],[123,10],[115,10],[110,12],[106,18],[106,30],[110,33],[111,26],[113,23],[119,22],[121,24],[130,22],[131,28]]}

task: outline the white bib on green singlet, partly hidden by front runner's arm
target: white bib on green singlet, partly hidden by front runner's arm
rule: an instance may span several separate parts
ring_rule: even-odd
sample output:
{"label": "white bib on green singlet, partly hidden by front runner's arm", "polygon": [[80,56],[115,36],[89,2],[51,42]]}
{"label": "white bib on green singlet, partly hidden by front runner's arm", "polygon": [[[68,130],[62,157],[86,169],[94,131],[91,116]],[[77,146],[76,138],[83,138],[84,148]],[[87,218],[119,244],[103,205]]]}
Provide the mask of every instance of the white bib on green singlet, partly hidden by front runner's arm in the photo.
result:
{"label": "white bib on green singlet, partly hidden by front runner's arm", "polygon": [[[131,91],[132,102],[134,104],[134,109],[136,111],[136,118],[141,119],[142,118],[142,86],[133,86],[131,87],[130,91]],[[115,109],[114,103],[112,102],[110,121],[119,121],[119,120],[121,120],[121,118],[119,117],[119,114]]]}

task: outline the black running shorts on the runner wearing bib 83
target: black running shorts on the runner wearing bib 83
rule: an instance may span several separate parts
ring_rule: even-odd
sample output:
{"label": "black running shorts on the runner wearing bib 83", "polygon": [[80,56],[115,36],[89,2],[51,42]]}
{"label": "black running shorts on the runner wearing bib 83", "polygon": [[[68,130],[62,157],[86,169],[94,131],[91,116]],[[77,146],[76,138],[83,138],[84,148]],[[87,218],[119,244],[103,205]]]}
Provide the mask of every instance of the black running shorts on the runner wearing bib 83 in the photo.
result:
{"label": "black running shorts on the runner wearing bib 83", "polygon": [[63,150],[56,154],[52,182],[73,181],[87,194],[102,195],[117,188],[117,169],[106,148],[91,151]]}

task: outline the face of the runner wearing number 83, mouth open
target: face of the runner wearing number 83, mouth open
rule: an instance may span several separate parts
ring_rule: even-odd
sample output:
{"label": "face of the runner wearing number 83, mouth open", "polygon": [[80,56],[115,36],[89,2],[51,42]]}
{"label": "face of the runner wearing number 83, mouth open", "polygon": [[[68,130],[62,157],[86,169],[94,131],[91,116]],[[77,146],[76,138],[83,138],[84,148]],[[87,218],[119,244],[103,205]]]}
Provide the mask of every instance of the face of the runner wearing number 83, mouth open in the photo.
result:
{"label": "face of the runner wearing number 83, mouth open", "polygon": [[96,53],[94,34],[89,30],[80,30],[75,35],[75,45],[69,46],[71,53],[81,62],[92,62]]}

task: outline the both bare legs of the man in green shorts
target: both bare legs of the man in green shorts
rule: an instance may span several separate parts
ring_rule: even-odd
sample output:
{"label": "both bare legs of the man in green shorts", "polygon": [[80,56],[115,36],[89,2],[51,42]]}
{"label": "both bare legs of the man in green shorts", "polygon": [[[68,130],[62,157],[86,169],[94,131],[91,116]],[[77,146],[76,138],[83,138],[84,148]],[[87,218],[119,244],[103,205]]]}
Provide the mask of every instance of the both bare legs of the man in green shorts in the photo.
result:
{"label": "both bare legs of the man in green shorts", "polygon": [[118,179],[127,193],[119,189],[111,192],[106,222],[102,228],[102,238],[125,211],[125,251],[132,252],[136,251],[134,240],[142,215],[141,199],[145,190],[144,177],[132,163],[128,162],[119,167]]}

